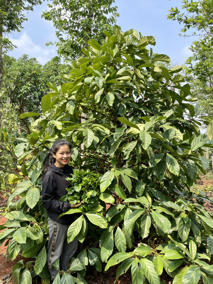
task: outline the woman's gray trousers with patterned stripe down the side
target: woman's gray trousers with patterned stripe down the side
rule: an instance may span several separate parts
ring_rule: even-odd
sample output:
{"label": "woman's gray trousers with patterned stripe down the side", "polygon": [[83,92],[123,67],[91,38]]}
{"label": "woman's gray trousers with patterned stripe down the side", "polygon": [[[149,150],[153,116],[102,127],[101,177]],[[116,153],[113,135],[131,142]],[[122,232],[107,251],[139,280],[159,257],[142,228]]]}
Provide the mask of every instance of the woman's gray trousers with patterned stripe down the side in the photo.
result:
{"label": "woman's gray trousers with patterned stripe down the side", "polygon": [[78,248],[78,240],[75,238],[67,243],[67,231],[70,225],[61,224],[48,218],[49,242],[47,251],[48,268],[51,279],[54,280],[58,270],[53,266],[54,262],[60,258],[60,270],[67,271],[67,262],[74,255]]}

